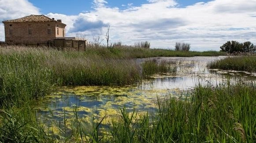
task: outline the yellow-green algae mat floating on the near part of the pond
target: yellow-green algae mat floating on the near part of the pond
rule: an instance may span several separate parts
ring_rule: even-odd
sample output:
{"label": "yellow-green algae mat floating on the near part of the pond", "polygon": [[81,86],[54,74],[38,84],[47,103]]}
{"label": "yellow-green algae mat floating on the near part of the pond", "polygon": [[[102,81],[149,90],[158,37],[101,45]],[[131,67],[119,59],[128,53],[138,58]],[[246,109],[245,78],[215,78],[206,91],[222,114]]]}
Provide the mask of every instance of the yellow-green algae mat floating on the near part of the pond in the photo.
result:
{"label": "yellow-green algae mat floating on the near part of the pond", "polygon": [[[56,93],[45,97],[37,107],[38,117],[52,134],[59,134],[60,122],[72,129],[75,119],[86,124],[88,130],[92,123],[111,125],[112,120],[119,118],[120,109],[126,107],[128,112],[136,109],[137,114],[157,110],[157,98],[177,94],[178,89],[138,89],[138,87],[110,86],[75,86],[63,87]],[[59,124],[58,124],[59,122]]]}

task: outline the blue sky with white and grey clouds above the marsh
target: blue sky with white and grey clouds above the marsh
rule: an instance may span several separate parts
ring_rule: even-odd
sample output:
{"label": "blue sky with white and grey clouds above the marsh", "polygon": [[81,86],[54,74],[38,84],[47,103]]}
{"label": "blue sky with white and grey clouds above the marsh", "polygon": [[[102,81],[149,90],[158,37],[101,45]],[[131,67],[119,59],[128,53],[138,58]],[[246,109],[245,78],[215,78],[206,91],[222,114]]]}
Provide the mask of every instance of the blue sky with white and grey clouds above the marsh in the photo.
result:
{"label": "blue sky with white and grey clouds above the marsh", "polygon": [[256,44],[256,0],[0,0],[0,21],[30,14],[62,19],[67,36],[88,40],[104,39],[110,25],[112,43],[172,49],[186,42],[198,51],[220,50],[228,40]]}

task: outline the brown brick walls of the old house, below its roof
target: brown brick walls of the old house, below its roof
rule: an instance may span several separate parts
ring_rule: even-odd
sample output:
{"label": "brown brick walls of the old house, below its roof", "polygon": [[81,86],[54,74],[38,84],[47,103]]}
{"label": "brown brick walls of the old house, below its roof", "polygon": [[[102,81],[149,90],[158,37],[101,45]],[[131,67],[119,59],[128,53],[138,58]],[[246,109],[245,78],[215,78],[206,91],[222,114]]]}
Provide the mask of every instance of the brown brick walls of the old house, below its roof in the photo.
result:
{"label": "brown brick walls of the old house, below its roof", "polygon": [[[59,25],[57,36],[56,25]],[[5,22],[5,42],[7,44],[39,44],[47,43],[56,37],[63,37],[65,26],[52,22]],[[65,32],[64,32],[65,33]]]}

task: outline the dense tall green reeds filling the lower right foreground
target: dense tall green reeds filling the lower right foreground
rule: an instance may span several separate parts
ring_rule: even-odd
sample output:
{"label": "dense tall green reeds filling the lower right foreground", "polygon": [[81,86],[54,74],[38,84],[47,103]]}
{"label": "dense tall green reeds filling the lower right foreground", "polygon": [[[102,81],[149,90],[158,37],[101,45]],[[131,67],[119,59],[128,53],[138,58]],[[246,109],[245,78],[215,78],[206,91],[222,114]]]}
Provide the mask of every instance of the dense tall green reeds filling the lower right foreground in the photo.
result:
{"label": "dense tall green reeds filling the lower right foreground", "polygon": [[189,95],[158,100],[157,115],[145,114],[134,122],[131,119],[137,118],[136,115],[126,117],[125,108],[122,109],[123,120],[113,124],[113,142],[253,143],[256,140],[254,83],[215,88],[199,85]]}

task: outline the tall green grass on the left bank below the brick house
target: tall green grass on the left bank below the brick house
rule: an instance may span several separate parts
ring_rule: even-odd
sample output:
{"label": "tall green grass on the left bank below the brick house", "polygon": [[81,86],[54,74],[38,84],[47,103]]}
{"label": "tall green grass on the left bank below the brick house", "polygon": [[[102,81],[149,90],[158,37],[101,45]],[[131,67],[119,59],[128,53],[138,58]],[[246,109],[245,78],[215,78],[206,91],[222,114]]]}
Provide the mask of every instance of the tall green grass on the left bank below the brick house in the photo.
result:
{"label": "tall green grass on the left bank below the brick house", "polygon": [[142,79],[134,60],[76,51],[9,47],[0,49],[0,105],[25,104],[56,86],[129,85]]}

